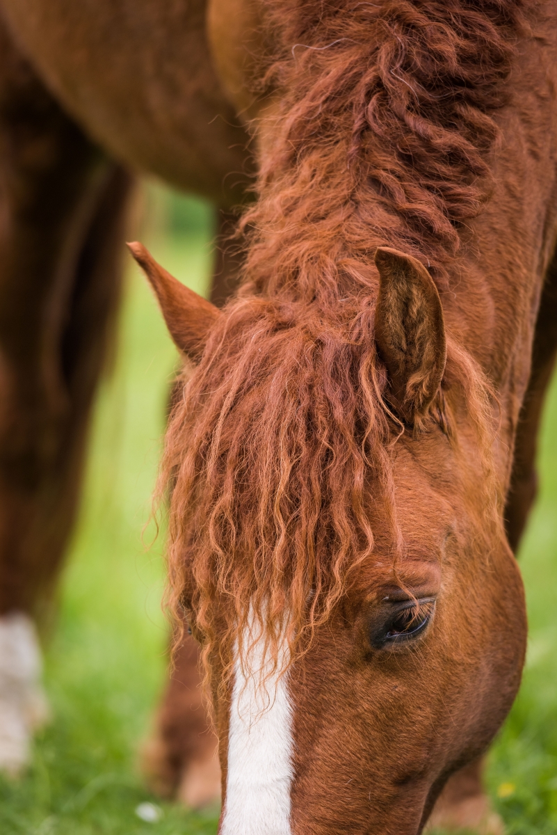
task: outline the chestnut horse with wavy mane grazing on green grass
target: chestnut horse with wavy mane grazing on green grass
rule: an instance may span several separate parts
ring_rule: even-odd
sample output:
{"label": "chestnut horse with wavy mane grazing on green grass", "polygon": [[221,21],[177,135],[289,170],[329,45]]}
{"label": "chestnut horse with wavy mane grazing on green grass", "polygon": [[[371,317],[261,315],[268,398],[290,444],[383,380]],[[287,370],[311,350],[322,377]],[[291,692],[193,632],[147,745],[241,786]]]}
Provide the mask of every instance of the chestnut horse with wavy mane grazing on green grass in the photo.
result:
{"label": "chestnut horse with wavy mane grazing on green grass", "polygon": [[557,347],[557,6],[0,8],[3,625],[57,574],[148,170],[236,209],[243,246],[218,306],[130,245],[183,356],[154,771],[213,785],[199,655],[222,835],[501,832],[481,771]]}

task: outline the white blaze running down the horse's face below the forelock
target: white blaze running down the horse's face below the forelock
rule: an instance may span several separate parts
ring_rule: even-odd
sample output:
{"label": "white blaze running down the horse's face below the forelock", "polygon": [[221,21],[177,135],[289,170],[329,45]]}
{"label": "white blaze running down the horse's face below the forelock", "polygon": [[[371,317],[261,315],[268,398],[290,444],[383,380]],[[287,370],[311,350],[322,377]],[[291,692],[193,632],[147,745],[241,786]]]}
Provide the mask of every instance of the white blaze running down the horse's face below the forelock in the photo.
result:
{"label": "white blaze running down the horse's face below the forelock", "polygon": [[[243,646],[252,642],[251,626]],[[244,661],[238,655],[228,731],[228,776],[221,835],[291,835],[290,787],[292,765],[292,708],[286,640],[279,647],[278,669],[263,658],[264,638],[259,637]]]}

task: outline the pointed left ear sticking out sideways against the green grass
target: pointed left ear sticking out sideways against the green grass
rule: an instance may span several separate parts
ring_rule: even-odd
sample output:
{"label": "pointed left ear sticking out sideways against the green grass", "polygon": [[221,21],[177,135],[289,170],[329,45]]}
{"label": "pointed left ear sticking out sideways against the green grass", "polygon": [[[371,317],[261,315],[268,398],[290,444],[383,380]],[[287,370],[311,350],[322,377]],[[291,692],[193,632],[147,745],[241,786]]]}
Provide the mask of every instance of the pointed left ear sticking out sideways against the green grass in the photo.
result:
{"label": "pointed left ear sticking out sideways against the green grass", "polygon": [[220,316],[218,308],[163,270],[137,241],[128,244],[158,298],[170,336],[180,351],[198,359],[207,342],[208,331]]}

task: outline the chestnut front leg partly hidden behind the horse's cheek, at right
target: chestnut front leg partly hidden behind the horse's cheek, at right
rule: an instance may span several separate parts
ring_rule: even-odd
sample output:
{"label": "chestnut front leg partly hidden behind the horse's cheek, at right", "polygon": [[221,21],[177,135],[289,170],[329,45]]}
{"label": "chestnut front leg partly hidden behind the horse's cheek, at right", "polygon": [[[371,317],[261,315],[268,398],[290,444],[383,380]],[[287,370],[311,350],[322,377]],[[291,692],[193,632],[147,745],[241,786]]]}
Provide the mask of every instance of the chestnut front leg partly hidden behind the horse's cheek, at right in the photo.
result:
{"label": "chestnut front leg partly hidden behind the horse's cheek, at right", "polygon": [[[532,370],[519,417],[509,493],[504,512],[509,544],[517,552],[529,511],[534,503],[538,478],[535,469],[539,420],[545,392],[557,355],[557,256],[549,266],[539,305],[532,347]],[[484,761],[478,760],[449,779],[429,826],[443,829],[473,828],[486,835],[504,832],[503,822],[491,811],[484,793]]]}

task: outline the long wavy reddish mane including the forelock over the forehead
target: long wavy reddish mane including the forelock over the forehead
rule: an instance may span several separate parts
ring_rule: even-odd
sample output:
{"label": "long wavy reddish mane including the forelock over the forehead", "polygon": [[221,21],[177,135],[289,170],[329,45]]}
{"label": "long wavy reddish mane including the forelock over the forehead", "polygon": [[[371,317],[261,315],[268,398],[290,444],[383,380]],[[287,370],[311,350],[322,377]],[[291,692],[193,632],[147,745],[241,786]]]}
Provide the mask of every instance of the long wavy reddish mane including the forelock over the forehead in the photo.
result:
{"label": "long wavy reddish mane including the forelock over the forehead", "polygon": [[[402,548],[373,253],[396,246],[449,284],[489,197],[521,5],[264,4],[273,151],[243,216],[243,287],[187,373],[163,465],[171,597],[195,610],[206,658],[230,650],[250,607],[275,649],[285,611],[292,657],[307,647],[374,549],[369,478]],[[448,373],[485,433],[484,376],[453,340]]]}

